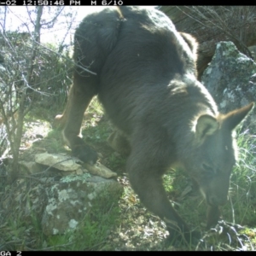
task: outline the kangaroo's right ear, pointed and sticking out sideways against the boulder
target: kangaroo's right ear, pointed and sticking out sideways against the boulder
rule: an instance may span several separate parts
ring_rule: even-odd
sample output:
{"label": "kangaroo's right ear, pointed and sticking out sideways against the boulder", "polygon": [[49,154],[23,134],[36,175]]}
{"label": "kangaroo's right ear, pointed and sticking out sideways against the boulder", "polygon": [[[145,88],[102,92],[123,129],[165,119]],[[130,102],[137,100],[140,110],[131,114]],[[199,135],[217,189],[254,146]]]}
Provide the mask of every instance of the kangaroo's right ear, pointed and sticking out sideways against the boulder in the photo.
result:
{"label": "kangaroo's right ear, pointed and sticking out sideways against the boulder", "polygon": [[223,125],[228,130],[232,131],[236,128],[237,125],[239,125],[247,116],[247,113],[249,113],[254,106],[254,102],[250,103],[246,107],[238,108],[236,110],[231,111],[230,113],[227,113],[224,115],[223,119]]}

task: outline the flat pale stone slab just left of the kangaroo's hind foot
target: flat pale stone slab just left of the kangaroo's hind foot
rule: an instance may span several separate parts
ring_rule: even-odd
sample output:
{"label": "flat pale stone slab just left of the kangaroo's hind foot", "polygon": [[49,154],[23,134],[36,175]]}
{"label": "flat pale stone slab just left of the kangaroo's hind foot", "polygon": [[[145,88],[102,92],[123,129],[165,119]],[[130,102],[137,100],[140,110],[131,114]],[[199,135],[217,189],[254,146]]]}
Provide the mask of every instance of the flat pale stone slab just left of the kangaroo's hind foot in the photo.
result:
{"label": "flat pale stone slab just left of the kangaroo's hind foot", "polygon": [[77,164],[75,159],[61,154],[36,154],[35,161],[38,164],[52,166],[61,171],[76,171],[81,168],[81,165]]}

